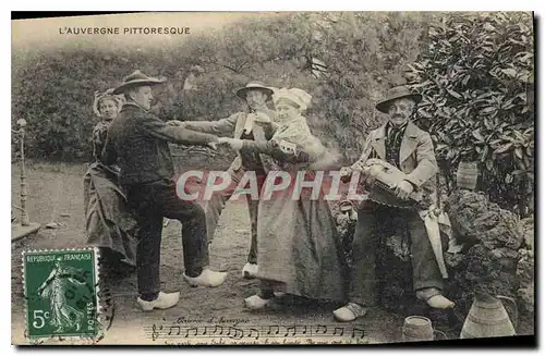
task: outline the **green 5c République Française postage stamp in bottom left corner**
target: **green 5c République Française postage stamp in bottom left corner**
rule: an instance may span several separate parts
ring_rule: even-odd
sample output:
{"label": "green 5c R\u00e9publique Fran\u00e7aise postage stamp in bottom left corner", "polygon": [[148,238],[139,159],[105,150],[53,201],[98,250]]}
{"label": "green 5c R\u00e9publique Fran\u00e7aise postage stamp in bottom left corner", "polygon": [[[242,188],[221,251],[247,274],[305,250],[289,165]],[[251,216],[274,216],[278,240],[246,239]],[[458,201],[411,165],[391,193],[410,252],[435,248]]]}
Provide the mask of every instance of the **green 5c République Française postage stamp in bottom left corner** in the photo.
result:
{"label": "green 5c R\u00e9publique Fran\u00e7aise postage stamp in bottom left corner", "polygon": [[97,336],[97,260],[93,248],[23,253],[28,339]]}

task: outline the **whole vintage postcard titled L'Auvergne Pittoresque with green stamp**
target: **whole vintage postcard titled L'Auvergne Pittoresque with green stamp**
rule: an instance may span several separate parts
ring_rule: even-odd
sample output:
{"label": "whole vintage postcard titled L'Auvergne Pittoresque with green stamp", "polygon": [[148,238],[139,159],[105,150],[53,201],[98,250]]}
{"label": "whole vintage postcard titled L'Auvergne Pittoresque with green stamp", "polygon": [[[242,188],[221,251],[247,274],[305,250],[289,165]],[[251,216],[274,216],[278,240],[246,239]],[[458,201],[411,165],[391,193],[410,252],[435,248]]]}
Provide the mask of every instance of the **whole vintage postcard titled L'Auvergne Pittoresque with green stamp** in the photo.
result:
{"label": "whole vintage postcard titled L'Auvergne Pittoresque with green stamp", "polygon": [[12,344],[534,345],[534,36],[13,19]]}

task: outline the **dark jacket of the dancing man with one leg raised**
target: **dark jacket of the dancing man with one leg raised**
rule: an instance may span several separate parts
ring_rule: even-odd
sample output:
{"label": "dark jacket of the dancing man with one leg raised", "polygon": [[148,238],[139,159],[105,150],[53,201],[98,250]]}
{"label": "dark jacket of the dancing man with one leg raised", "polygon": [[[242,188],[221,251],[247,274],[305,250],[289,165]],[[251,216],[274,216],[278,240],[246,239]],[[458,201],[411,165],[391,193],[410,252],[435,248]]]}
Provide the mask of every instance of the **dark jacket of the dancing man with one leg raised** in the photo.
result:
{"label": "dark jacket of the dancing man with one leg raised", "polygon": [[167,125],[142,107],[126,102],[108,128],[102,161],[119,164],[122,185],[171,180],[174,165],[169,142],[206,145],[216,140],[215,135]]}

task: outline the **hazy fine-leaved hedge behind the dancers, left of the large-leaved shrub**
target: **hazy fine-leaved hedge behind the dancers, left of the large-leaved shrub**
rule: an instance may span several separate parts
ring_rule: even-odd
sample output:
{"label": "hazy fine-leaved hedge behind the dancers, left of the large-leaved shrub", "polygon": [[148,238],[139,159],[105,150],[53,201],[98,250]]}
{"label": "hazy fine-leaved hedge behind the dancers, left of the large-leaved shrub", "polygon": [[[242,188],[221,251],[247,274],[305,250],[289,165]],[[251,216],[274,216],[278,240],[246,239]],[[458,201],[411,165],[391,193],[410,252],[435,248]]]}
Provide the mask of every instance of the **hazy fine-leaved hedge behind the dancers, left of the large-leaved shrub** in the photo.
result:
{"label": "hazy fine-leaved hedge behind the dancers, left of the large-leaved shrub", "polygon": [[[282,13],[240,21],[159,49],[85,42],[13,52],[13,118],[28,122],[29,156],[90,158],[95,90],[135,69],[166,76],[154,110],[165,119],[217,120],[243,109],[239,87],[258,79],[313,95],[313,132],[348,161],[384,120],[374,102],[420,52],[426,14]],[[190,67],[203,72],[184,90]]]}

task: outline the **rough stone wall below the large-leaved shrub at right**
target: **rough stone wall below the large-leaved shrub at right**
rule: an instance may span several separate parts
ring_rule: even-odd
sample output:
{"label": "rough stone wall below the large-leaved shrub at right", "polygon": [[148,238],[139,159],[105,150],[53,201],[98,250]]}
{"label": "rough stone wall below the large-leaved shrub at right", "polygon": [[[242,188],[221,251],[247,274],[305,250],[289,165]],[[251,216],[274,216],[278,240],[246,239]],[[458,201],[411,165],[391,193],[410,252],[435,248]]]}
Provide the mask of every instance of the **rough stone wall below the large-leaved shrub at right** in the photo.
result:
{"label": "rough stone wall below the large-leaved shrub at right", "polygon": [[465,189],[448,197],[446,211],[453,237],[462,246],[458,254],[446,254],[450,293],[460,315],[467,314],[476,291],[512,297],[519,309],[533,315],[534,263],[528,253],[533,245],[533,219],[519,220],[482,193]]}

